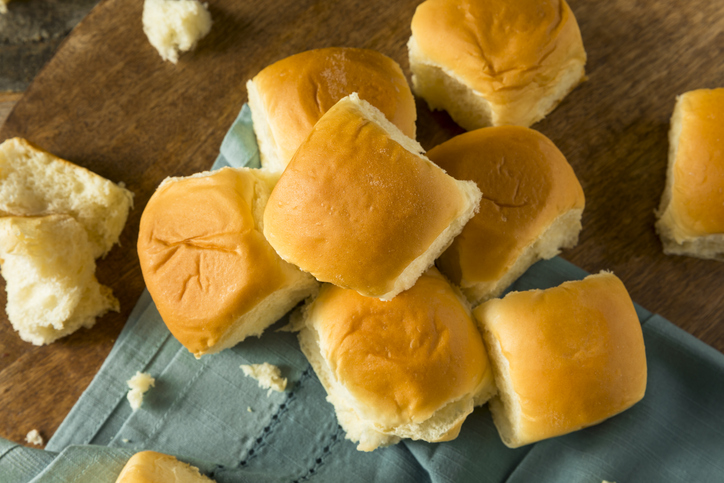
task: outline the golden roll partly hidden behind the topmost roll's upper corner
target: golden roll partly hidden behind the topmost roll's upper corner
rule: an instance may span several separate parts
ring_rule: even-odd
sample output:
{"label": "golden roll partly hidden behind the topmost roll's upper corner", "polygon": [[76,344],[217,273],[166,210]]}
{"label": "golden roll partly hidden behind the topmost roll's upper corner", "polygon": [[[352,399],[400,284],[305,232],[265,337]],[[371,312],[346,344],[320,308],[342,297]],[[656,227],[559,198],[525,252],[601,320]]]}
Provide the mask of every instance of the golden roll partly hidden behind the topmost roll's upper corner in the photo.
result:
{"label": "golden roll partly hidden behind the topmost roll's upper corner", "polygon": [[402,69],[368,49],[327,48],[282,59],[246,84],[265,169],[281,173],[337,101],[353,92],[415,138],[415,100]]}

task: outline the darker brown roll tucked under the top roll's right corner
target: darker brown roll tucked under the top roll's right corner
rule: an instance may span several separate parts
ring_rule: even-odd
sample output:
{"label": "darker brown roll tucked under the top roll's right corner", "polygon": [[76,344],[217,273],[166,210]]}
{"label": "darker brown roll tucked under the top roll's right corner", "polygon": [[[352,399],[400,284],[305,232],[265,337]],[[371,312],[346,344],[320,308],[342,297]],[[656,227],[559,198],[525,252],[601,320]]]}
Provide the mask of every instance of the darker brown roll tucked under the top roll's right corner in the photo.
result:
{"label": "darker brown roll tucked under the top roll's right corner", "polygon": [[544,135],[519,126],[489,127],[427,155],[483,192],[478,214],[437,260],[471,303],[499,296],[533,263],[577,243],[583,189]]}

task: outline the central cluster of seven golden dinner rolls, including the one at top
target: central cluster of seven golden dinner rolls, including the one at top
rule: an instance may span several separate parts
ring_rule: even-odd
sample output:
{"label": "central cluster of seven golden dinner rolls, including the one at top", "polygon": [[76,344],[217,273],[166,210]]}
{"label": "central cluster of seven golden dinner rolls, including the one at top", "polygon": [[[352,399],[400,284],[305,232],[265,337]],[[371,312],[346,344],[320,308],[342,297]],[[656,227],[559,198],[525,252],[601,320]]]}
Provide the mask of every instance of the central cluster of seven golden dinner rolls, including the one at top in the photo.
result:
{"label": "central cluster of seven golden dinner rolls, including the one at top", "polygon": [[409,52],[415,93],[470,130],[428,153],[379,52],[302,52],[248,82],[261,169],[169,178],[143,213],[164,322],[202,357],[306,299],[293,328],[363,451],[451,440],[488,401],[510,447],[629,408],[646,357],[617,277],[498,298],[581,230],[581,184],[528,127],[584,78],[570,8],[428,0]]}

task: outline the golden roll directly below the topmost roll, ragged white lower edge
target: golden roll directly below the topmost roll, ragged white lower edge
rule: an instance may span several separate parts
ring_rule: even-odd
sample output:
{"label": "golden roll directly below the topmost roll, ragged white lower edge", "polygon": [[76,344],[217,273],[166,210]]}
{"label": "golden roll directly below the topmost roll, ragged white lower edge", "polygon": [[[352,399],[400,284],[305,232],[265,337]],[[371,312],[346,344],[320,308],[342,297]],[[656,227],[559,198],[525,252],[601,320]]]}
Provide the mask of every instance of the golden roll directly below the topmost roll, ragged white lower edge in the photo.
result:
{"label": "golden roll directly below the topmost roll, ragged white lower edge", "polygon": [[390,302],[325,284],[303,319],[302,351],[358,450],[454,439],[495,392],[470,309],[434,268]]}

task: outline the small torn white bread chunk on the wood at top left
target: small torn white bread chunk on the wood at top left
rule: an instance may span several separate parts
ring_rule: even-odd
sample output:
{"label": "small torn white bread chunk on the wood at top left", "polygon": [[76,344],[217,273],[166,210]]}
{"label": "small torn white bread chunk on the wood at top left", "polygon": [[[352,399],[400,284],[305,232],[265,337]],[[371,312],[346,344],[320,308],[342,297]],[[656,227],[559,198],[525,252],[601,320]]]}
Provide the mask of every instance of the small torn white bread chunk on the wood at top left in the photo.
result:
{"label": "small torn white bread chunk on the wood at top left", "polygon": [[198,0],[145,0],[143,32],[163,60],[178,62],[211,31],[211,14]]}

